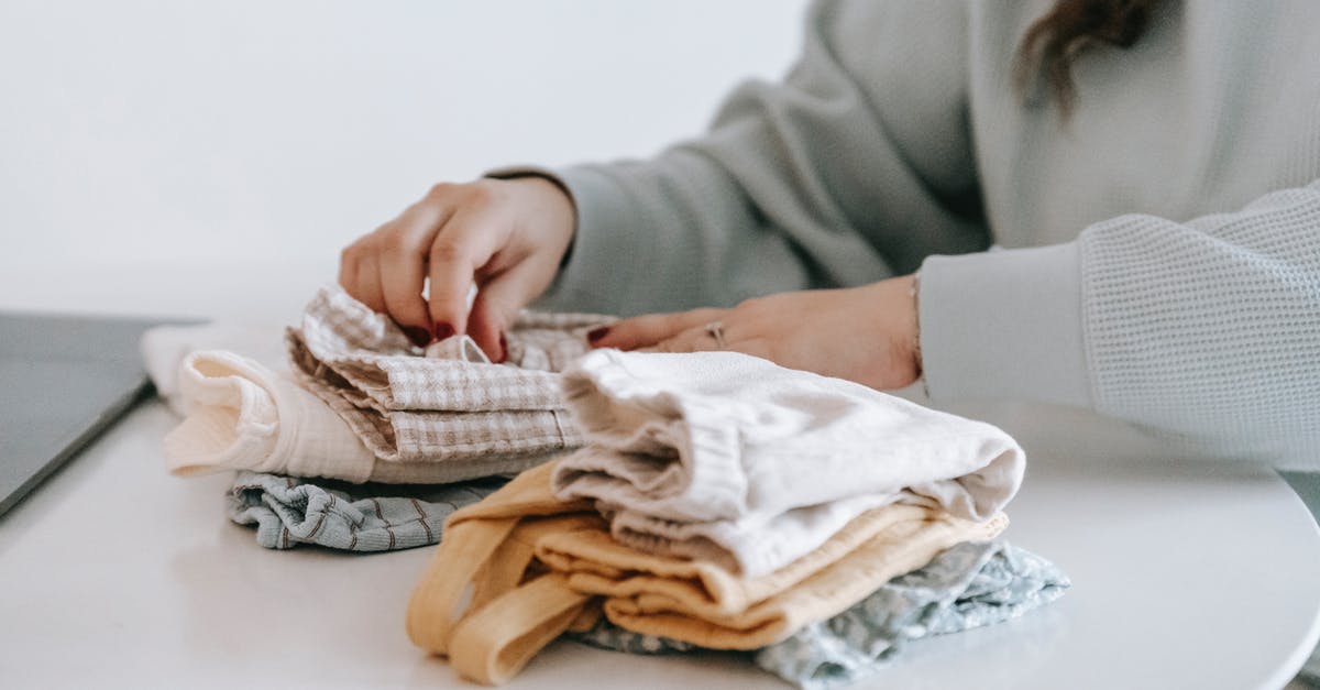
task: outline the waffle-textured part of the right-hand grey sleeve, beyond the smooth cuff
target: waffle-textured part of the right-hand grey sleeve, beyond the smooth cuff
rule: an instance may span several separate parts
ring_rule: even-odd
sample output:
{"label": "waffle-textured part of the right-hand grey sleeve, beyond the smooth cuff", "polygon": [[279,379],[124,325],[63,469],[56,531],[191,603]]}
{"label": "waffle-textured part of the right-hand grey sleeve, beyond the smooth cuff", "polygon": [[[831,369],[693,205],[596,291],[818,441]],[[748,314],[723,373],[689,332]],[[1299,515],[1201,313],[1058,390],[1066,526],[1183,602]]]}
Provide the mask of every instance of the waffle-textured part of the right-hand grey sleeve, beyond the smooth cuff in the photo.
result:
{"label": "waffle-textured part of the right-hand grey sleeve, beyond the smooth cuff", "polygon": [[1320,181],[1188,223],[1121,215],[1078,243],[1100,411],[1320,467]]}

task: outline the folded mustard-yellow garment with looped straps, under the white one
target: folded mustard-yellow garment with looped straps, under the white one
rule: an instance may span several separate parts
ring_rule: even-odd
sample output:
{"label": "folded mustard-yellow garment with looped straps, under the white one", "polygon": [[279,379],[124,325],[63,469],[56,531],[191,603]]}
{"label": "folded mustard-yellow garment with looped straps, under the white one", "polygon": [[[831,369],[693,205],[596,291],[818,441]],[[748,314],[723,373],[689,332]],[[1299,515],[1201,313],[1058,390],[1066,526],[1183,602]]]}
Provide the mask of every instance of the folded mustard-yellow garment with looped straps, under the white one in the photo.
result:
{"label": "folded mustard-yellow garment with looped straps, under the white one", "polygon": [[553,496],[553,472],[554,463],[529,469],[454,513],[413,591],[413,642],[449,654],[470,678],[512,677],[557,634],[586,623],[598,597],[627,629],[706,648],[766,646],[841,613],[939,551],[994,538],[1007,525],[1002,514],[974,522],[888,505],[785,568],[750,579],[614,542],[589,502]]}

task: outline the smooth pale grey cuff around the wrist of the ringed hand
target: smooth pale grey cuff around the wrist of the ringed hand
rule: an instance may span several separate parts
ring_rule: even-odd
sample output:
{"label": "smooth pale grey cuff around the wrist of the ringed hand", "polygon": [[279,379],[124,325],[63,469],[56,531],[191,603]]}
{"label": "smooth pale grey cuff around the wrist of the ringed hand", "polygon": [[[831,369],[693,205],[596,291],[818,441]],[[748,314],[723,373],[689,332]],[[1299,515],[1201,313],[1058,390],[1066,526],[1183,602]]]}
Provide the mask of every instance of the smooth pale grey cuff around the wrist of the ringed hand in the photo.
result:
{"label": "smooth pale grey cuff around the wrist of the ringed hand", "polygon": [[929,256],[919,305],[932,399],[1092,407],[1076,243]]}

